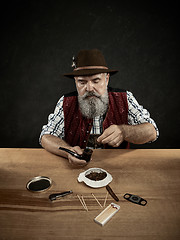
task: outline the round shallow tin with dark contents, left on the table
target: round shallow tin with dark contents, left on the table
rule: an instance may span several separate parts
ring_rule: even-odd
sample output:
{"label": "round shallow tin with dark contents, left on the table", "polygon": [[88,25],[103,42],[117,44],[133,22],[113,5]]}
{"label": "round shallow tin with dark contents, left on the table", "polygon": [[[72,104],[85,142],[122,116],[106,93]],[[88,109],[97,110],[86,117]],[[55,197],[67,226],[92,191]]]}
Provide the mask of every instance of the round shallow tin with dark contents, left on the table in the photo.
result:
{"label": "round shallow tin with dark contents, left on the table", "polygon": [[32,192],[42,192],[50,188],[52,185],[52,180],[48,177],[38,176],[31,179],[26,187]]}

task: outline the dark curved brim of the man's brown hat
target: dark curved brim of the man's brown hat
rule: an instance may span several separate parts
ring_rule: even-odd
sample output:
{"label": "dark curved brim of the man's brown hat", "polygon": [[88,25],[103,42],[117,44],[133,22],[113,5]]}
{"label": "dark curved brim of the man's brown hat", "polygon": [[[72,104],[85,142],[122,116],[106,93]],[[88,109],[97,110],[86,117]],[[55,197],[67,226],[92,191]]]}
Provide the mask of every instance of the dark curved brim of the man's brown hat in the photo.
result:
{"label": "dark curved brim of the man's brown hat", "polygon": [[75,70],[71,73],[65,73],[63,75],[68,78],[74,78],[77,76],[89,76],[89,75],[94,75],[98,73],[109,73],[110,75],[113,75],[117,72],[118,70],[111,70],[111,69],[81,69],[81,70]]}

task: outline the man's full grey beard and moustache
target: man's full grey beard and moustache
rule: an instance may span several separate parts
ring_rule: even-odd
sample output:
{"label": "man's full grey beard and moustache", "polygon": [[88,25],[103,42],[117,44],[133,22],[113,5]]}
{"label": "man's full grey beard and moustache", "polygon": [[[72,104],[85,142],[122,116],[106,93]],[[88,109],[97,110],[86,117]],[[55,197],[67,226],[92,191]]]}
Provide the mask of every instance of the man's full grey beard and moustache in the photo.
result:
{"label": "man's full grey beard and moustache", "polygon": [[[89,96],[94,96],[90,97]],[[86,92],[83,96],[78,96],[79,107],[84,117],[94,118],[106,113],[109,105],[108,92],[102,96],[95,92]]]}

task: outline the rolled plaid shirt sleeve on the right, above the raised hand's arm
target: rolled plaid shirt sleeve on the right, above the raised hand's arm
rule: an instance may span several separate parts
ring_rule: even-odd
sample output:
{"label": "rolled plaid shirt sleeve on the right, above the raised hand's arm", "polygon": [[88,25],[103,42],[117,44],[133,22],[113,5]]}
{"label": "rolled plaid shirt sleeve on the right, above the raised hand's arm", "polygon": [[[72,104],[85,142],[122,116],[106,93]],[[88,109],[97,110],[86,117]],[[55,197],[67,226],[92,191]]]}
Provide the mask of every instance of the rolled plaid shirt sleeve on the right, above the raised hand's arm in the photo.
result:
{"label": "rolled plaid shirt sleeve on the right, above the raised hand's arm", "polygon": [[151,123],[156,130],[156,139],[159,137],[159,130],[155,121],[150,117],[150,113],[139,105],[133,94],[127,91],[128,101],[128,124],[137,125],[141,123]]}

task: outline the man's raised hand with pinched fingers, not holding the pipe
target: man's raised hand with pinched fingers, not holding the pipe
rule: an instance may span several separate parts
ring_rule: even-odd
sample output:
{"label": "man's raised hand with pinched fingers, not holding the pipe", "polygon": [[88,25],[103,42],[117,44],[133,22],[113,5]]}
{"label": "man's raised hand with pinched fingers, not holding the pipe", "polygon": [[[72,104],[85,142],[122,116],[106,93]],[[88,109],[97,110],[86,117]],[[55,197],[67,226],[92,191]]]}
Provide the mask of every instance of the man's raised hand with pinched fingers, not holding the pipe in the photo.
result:
{"label": "man's raised hand with pinched fingers, not holding the pipe", "polygon": [[112,147],[119,147],[124,141],[124,132],[121,125],[111,125],[106,128],[97,141],[101,144],[108,144]]}

